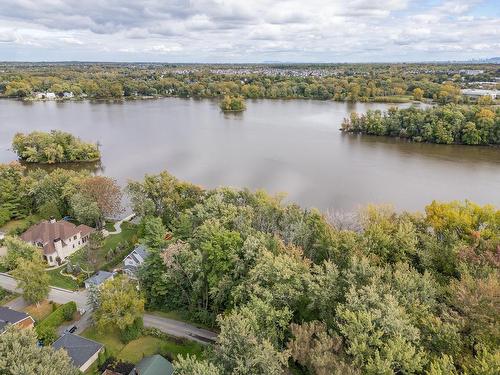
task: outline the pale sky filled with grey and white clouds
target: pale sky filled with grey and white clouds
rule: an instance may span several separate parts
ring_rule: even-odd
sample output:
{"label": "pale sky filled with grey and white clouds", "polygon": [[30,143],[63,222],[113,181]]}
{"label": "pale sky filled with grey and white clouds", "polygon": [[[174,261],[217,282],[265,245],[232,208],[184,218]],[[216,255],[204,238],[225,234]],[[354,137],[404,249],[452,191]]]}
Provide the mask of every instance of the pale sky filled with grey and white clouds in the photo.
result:
{"label": "pale sky filled with grey and white clouds", "polygon": [[500,56],[500,0],[0,0],[1,61],[402,62]]}

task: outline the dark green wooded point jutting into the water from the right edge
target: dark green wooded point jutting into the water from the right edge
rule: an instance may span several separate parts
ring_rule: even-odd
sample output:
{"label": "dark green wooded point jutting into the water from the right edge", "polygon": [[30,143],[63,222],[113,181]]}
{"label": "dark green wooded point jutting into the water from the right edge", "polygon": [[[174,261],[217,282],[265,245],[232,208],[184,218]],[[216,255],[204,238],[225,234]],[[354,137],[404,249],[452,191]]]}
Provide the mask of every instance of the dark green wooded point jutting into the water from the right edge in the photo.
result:
{"label": "dark green wooded point jutting into the water from the right edge", "polygon": [[500,108],[449,104],[428,109],[391,108],[351,114],[342,131],[465,145],[500,144]]}

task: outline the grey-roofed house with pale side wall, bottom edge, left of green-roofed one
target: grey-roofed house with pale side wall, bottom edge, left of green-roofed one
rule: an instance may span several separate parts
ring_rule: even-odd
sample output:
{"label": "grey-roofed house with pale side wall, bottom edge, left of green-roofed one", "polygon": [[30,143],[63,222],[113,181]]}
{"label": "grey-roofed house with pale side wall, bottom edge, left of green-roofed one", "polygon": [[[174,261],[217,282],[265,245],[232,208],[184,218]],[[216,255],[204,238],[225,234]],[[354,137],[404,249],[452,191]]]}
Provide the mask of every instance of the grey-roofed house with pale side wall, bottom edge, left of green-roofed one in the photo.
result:
{"label": "grey-roofed house with pale side wall, bottom edge, left of green-roofed one", "polygon": [[99,357],[104,346],[96,341],[66,333],[59,337],[53,344],[54,349],[64,349],[68,353],[73,365],[85,372]]}

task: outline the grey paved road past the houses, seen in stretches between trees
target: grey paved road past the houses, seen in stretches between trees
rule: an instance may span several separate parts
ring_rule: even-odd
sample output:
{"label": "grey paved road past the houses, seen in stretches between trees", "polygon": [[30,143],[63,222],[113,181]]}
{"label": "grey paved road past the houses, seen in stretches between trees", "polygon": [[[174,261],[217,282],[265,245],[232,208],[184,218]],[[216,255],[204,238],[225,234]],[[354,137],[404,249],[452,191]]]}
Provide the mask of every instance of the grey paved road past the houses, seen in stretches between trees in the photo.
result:
{"label": "grey paved road past the houses, seen in stretches between trees", "polygon": [[[17,288],[16,281],[11,276],[6,274],[0,274],[0,287],[12,292],[22,292]],[[86,327],[89,326],[91,311],[87,306],[87,292],[85,290],[71,292],[60,288],[51,288],[48,299],[56,303],[75,301],[79,309],[83,308],[87,310],[83,318],[76,324],[78,327],[76,333],[81,333]],[[22,299],[20,298],[15,299],[11,303],[12,308],[22,308],[23,306]],[[163,318],[151,314],[144,314],[144,325],[146,327],[158,328],[160,331],[172,336],[184,337],[204,344],[213,342],[217,338],[217,335],[214,332],[200,329],[178,320]]]}

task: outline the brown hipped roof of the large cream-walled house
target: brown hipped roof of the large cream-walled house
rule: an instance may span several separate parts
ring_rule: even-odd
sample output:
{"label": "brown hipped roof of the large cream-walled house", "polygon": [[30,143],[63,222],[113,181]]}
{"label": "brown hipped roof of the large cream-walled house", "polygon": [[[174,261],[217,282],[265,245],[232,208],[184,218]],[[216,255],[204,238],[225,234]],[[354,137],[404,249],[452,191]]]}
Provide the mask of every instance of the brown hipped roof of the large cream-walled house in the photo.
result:
{"label": "brown hipped roof of the large cream-walled house", "polygon": [[54,253],[54,241],[65,241],[77,233],[86,236],[95,229],[86,225],[76,226],[65,220],[50,222],[44,220],[36,225],[33,225],[26,232],[21,234],[21,238],[30,243],[41,243],[43,245],[43,253],[48,255]]}

